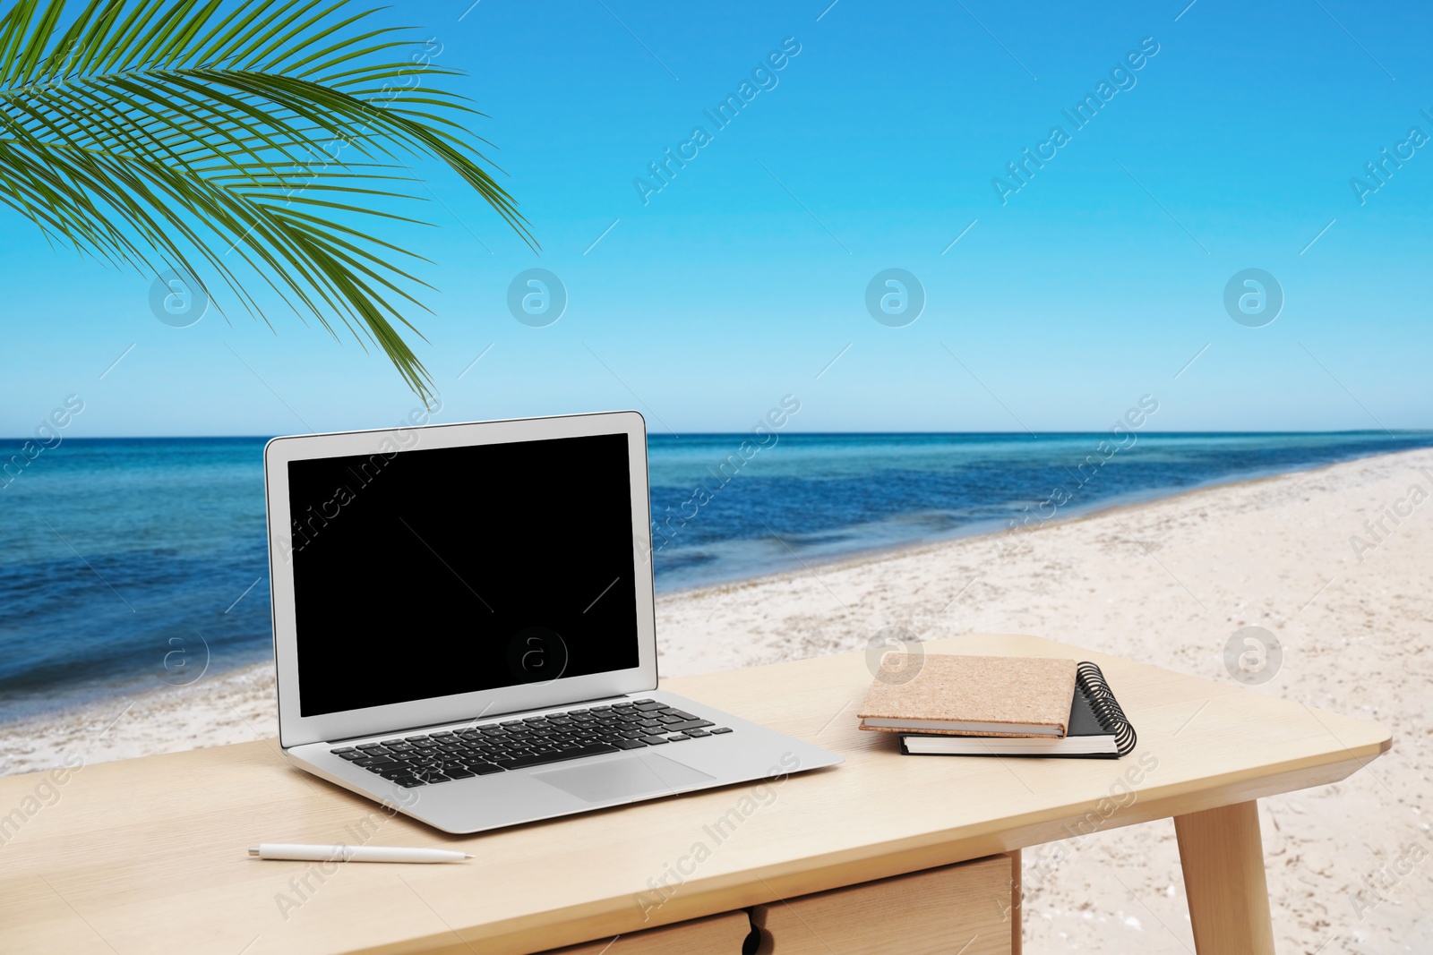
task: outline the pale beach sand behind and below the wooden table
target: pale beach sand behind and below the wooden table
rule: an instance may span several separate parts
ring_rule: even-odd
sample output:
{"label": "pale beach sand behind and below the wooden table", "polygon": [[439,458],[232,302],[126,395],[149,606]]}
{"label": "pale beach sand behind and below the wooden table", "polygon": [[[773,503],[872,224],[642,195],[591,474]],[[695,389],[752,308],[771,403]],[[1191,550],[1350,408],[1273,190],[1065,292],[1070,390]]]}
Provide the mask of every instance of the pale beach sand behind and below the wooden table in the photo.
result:
{"label": "pale beach sand behind and below the wooden table", "polygon": [[[1426,468],[1426,470],[1424,470]],[[1433,451],[1390,454],[658,600],[661,669],[682,676],[923,639],[1030,633],[1228,682],[1227,639],[1284,647],[1254,687],[1377,719],[1394,749],[1348,780],[1264,800],[1280,955],[1433,951]],[[1403,501],[1399,504],[1399,501]],[[1394,524],[1384,508],[1409,511]],[[1384,523],[1370,533],[1364,521]],[[1387,533],[1384,533],[1387,531]],[[1369,547],[1354,547],[1360,537]],[[0,727],[0,773],[269,737],[268,666]],[[1250,727],[1258,732],[1258,727]],[[1174,825],[1026,852],[1030,952],[1194,951]],[[1032,871],[1040,865],[1042,875]]]}

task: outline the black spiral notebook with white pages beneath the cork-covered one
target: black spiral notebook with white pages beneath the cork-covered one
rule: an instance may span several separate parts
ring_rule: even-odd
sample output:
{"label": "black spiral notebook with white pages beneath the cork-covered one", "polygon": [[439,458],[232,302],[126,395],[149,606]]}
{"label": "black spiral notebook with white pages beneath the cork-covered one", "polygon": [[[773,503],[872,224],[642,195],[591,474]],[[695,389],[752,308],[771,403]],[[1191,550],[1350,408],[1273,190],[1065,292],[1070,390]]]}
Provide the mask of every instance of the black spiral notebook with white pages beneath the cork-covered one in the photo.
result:
{"label": "black spiral notebook with white pages beneath the cork-covered one", "polygon": [[1093,663],[1080,663],[1075,674],[1068,730],[1048,736],[924,736],[901,733],[907,756],[1063,756],[1118,759],[1134,752],[1138,737],[1125,717],[1105,674]]}

